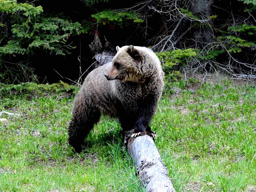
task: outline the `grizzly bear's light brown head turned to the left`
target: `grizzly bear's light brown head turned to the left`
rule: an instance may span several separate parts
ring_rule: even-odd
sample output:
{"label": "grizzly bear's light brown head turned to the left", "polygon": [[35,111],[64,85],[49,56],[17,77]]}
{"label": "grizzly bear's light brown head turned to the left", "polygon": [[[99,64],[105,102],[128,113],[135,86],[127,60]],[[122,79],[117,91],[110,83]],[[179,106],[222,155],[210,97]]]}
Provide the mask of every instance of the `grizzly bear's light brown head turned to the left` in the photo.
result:
{"label": "grizzly bear's light brown head turned to the left", "polygon": [[161,64],[153,51],[146,47],[116,47],[117,54],[105,77],[108,80],[144,82],[151,77]]}

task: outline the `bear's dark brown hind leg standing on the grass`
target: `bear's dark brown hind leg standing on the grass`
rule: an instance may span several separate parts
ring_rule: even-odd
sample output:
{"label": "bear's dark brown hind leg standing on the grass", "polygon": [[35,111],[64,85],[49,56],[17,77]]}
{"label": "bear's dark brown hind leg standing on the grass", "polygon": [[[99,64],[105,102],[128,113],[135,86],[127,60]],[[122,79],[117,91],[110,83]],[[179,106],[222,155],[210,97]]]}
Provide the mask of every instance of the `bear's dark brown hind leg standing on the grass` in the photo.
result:
{"label": "bear's dark brown hind leg standing on the grass", "polygon": [[89,107],[84,103],[74,106],[71,122],[68,127],[68,143],[78,153],[82,151],[84,139],[99,121],[101,113],[96,107]]}

